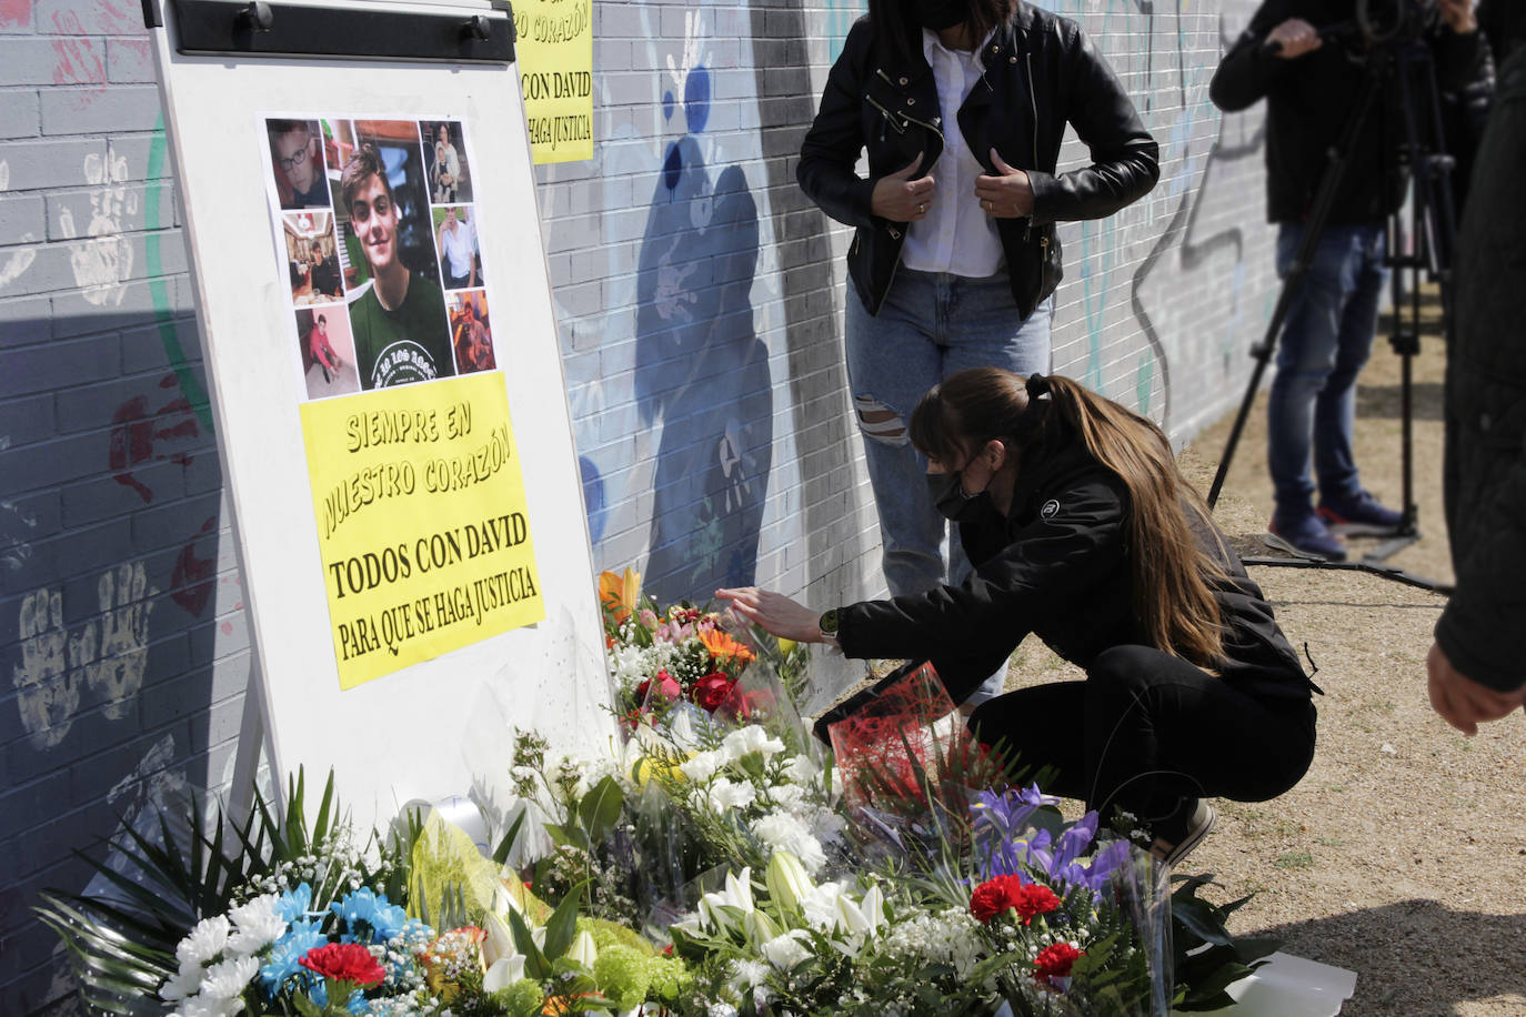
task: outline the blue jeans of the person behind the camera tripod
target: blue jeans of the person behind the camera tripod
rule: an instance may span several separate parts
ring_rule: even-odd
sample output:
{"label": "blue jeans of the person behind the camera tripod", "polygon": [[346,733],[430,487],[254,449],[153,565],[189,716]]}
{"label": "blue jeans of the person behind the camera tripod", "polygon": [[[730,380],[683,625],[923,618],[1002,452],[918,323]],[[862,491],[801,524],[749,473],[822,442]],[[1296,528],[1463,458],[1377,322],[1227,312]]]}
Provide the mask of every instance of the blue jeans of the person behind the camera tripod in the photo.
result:
{"label": "blue jeans of the person behind the camera tripod", "polygon": [[[1282,224],[1277,274],[1283,279],[1302,241],[1303,224]],[[1288,308],[1267,398],[1267,465],[1280,515],[1314,511],[1311,451],[1323,500],[1361,492],[1352,453],[1357,375],[1372,351],[1389,278],[1383,253],[1383,223],[1328,226]]]}

